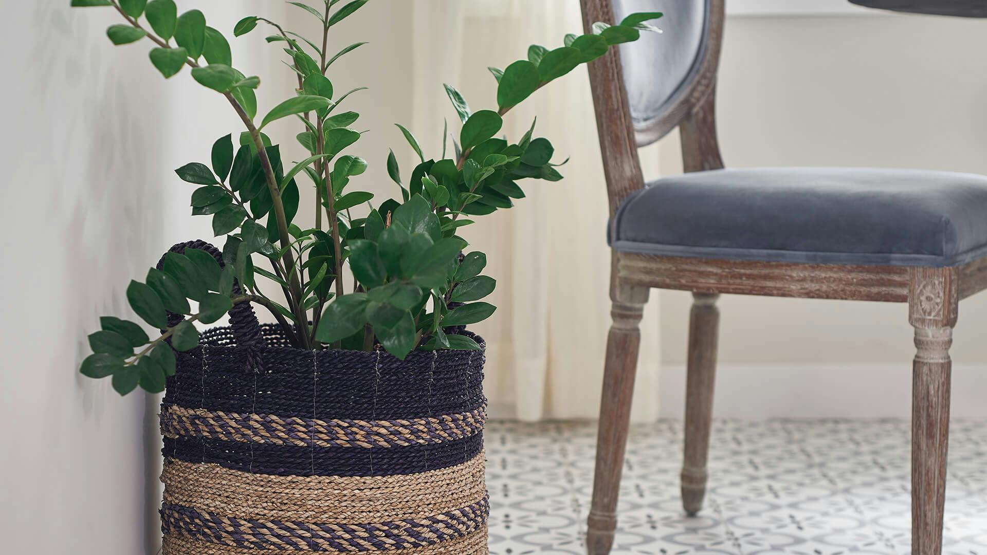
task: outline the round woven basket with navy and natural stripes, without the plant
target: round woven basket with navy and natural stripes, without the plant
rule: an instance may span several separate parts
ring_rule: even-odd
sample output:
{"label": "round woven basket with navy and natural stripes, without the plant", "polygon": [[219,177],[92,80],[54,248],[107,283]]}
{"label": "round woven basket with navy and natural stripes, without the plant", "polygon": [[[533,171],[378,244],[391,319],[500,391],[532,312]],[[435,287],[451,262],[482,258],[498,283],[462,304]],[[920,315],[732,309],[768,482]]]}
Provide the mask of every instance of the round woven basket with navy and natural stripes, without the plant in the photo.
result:
{"label": "round woven basket with navy and natural stripes, without the plant", "polygon": [[166,555],[489,552],[483,351],[314,352],[247,303],[230,321],[168,379]]}

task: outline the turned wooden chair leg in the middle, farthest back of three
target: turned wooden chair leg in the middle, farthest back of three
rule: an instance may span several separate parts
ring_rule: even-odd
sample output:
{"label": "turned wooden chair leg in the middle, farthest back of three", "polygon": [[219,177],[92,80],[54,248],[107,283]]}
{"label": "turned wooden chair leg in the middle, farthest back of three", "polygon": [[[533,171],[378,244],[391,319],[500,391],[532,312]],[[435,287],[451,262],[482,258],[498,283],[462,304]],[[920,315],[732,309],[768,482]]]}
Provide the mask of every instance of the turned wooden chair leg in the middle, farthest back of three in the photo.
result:
{"label": "turned wooden chair leg in the middle, farthest back of three", "polygon": [[689,317],[689,358],[685,395],[685,456],[682,463],[682,507],[695,516],[706,497],[706,461],[713,420],[713,390],[717,375],[719,294],[693,293]]}

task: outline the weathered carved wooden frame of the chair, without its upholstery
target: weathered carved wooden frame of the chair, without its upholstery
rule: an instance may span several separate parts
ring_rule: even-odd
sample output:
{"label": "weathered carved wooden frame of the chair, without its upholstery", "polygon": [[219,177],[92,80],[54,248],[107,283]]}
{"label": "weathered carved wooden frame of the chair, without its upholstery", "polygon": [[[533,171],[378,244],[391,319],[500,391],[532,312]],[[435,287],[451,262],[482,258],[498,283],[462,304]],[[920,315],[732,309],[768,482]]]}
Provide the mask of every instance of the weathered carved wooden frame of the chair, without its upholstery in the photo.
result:
{"label": "weathered carved wooden frame of the chair, without its upholstery", "polygon": [[[581,0],[589,33],[596,21],[613,21],[612,0]],[[660,119],[635,128],[619,52],[589,65],[604,171],[613,216],[623,200],[645,185],[638,145],[680,127],[686,172],[723,167],[714,118],[723,31],[723,0],[712,0],[708,46],[699,75]],[[716,373],[721,293],[907,302],[915,329],[912,414],[912,553],[942,552],[949,435],[949,346],[960,299],[987,288],[987,259],[956,268],[792,264],[704,260],[614,252],[610,297],[613,325],[600,408],[593,501],[587,547],[610,552],[617,524],[617,495],[624,463],[631,397],[641,343],[639,322],[651,287],[693,292],[686,385],[682,502],[695,515],[706,493],[707,454]]]}

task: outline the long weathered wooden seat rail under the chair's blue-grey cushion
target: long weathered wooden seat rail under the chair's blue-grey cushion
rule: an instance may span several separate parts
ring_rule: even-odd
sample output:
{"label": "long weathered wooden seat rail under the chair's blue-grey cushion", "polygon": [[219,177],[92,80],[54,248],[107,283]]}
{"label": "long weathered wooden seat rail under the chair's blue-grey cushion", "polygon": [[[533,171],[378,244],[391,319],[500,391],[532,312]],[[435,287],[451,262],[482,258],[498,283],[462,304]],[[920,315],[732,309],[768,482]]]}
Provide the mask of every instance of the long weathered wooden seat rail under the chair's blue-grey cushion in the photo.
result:
{"label": "long weathered wooden seat rail under the chair's blue-grey cushion", "polygon": [[908,269],[618,253],[622,280],[662,289],[799,298],[905,302]]}

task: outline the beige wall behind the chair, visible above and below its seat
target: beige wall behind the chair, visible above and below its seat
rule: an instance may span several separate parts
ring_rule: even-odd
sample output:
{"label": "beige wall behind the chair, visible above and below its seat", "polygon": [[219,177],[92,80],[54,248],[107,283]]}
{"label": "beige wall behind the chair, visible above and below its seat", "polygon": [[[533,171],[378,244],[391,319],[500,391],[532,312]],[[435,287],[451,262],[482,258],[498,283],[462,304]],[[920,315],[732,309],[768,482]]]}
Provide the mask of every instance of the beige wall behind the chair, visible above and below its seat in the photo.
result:
{"label": "beige wall behind the chair, visible above and below its seat", "polygon": [[[987,173],[987,26],[921,16],[729,18],[719,91],[727,166],[877,166]],[[681,171],[678,139],[662,173]],[[987,217],[987,214],[984,214]],[[684,361],[691,298],[662,292],[667,364]],[[721,363],[907,362],[903,306],[726,296]],[[987,295],[960,307],[953,358],[985,362]]]}

